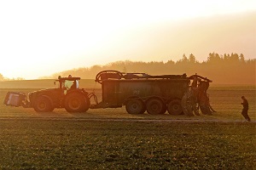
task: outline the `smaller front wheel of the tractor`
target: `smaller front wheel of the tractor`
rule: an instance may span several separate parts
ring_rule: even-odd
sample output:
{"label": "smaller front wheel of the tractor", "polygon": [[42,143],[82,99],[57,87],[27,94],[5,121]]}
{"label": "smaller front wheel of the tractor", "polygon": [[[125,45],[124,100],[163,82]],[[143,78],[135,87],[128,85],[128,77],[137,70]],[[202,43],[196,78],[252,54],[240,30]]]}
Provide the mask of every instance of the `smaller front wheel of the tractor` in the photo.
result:
{"label": "smaller front wheel of the tractor", "polygon": [[44,96],[39,96],[38,99],[36,99],[33,108],[37,112],[48,112],[54,110],[54,107],[50,104],[49,99]]}

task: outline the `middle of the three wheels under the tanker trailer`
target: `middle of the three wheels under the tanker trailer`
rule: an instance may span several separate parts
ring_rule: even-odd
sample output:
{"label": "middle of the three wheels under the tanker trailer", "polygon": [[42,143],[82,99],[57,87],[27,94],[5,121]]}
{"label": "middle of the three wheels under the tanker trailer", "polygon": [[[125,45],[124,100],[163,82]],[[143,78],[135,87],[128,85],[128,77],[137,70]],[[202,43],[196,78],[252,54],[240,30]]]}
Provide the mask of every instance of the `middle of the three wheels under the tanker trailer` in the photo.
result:
{"label": "middle of the three wheels under the tanker trailer", "polygon": [[165,105],[160,99],[148,99],[146,107],[148,114],[152,115],[163,114],[165,111]]}

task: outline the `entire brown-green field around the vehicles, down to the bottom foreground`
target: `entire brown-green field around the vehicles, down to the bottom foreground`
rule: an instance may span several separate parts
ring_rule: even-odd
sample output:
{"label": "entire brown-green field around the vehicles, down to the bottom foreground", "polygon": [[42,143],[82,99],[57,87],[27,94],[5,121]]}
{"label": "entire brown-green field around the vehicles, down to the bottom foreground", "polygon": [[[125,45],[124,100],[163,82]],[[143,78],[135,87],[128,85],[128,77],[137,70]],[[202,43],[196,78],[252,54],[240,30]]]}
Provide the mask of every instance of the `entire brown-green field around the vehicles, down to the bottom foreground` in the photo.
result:
{"label": "entire brown-green field around the vehicles, down to the bottom foreground", "polygon": [[[2,88],[0,101],[8,91],[32,90]],[[0,105],[0,169],[255,169],[255,87],[211,87],[208,94],[218,111],[212,116]],[[241,95],[252,122],[241,116]]]}

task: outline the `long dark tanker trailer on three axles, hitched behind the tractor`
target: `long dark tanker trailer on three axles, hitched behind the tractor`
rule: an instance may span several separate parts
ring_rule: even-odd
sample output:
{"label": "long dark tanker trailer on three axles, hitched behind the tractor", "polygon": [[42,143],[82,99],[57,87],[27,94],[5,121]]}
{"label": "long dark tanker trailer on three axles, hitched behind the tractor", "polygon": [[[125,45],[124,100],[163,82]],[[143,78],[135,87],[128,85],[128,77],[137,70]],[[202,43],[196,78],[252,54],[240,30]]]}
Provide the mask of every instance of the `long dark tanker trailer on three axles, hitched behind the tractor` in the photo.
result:
{"label": "long dark tanker trailer on three axles, hitched behind the tractor", "polygon": [[[194,88],[190,86],[191,80]],[[91,109],[125,105],[130,114],[143,114],[145,111],[148,114],[164,114],[168,111],[172,115],[185,113],[192,116],[191,111],[199,101],[198,92],[201,92],[197,90],[199,84],[212,81],[197,75],[187,77],[186,74],[150,76],[145,73],[101,71],[96,75],[96,82],[102,84],[102,102],[91,105]],[[199,113],[194,112],[196,115]]]}

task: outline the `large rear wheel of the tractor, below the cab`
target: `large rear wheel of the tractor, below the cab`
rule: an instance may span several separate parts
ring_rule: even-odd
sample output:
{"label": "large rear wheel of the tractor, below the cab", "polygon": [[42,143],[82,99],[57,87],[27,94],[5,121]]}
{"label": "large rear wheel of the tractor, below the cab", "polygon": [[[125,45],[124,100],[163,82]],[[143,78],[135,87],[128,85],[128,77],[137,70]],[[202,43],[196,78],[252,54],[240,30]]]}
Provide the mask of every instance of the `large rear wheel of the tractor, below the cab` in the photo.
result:
{"label": "large rear wheel of the tractor, below the cab", "polygon": [[90,107],[90,100],[83,94],[68,94],[65,99],[65,109],[67,112],[85,112]]}

